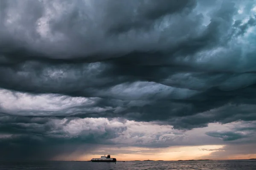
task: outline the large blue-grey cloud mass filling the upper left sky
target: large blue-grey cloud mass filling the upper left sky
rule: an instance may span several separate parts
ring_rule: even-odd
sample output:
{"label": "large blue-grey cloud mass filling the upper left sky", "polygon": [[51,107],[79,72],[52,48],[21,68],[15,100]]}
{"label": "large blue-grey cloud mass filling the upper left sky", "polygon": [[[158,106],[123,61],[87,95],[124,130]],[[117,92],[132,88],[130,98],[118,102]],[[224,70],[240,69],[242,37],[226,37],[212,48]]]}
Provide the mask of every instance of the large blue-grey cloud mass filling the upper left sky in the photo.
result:
{"label": "large blue-grey cloud mass filling the upper left sky", "polygon": [[[161,0],[160,3],[152,0],[132,0],[129,3],[113,0],[66,0],[62,2],[55,1],[54,3],[36,1],[30,3],[27,0],[23,4],[16,0],[5,1],[3,2],[3,14],[1,16],[1,24],[4,27],[1,30],[7,35],[3,34],[1,37],[4,40],[8,39],[9,43],[14,43],[12,41],[24,42],[29,39],[38,41],[38,43],[31,44],[30,41],[21,44],[17,42],[9,47],[8,43],[3,42],[1,44],[6,48],[2,51],[11,58],[30,58],[33,57],[33,54],[38,53],[41,55],[38,56],[37,54],[38,57],[34,56],[33,58],[76,59],[77,57],[91,58],[90,55],[96,55],[94,60],[102,58],[101,55],[106,56],[103,58],[109,58],[116,53],[119,55],[119,53],[127,54],[134,50],[148,51],[151,50],[152,45],[162,39],[157,33],[157,28],[154,28],[158,19],[183,11],[188,13],[195,5],[195,0],[185,0],[183,2]],[[18,18],[12,15],[13,10],[22,12],[23,17]],[[31,16],[31,14],[33,15]],[[44,23],[47,19],[50,19],[49,23]],[[9,26],[17,26],[17,24],[18,28],[9,29]],[[143,29],[145,27],[149,28],[145,30]],[[13,36],[14,31],[23,34],[19,34],[17,37]],[[144,31],[145,33],[143,33]],[[52,35],[50,39],[54,39],[53,42],[45,37],[45,32]],[[138,36],[141,41],[138,41]],[[152,44],[148,43],[148,40],[153,41]]]}

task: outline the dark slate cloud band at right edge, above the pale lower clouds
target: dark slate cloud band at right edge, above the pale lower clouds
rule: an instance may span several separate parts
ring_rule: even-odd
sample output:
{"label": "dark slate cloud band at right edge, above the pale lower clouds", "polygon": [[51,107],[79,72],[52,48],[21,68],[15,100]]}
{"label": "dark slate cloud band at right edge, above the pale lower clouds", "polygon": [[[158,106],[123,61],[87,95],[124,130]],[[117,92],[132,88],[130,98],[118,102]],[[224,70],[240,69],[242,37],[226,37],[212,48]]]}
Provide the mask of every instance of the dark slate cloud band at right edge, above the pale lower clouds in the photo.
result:
{"label": "dark slate cloud band at right edge, above the pale lower clouds", "polygon": [[[235,97],[235,96],[234,96]],[[231,99],[230,99],[231,100]],[[246,101],[246,99],[244,99]],[[253,102],[254,100],[250,101]],[[241,102],[239,100],[239,102]],[[256,120],[255,109],[256,106],[253,104],[238,104],[236,100],[234,100],[233,104],[228,104],[221,106],[221,103],[225,103],[223,101],[219,101],[216,105],[209,104],[207,108],[211,107],[211,110],[205,111],[202,113],[197,113],[194,115],[180,116],[172,118],[170,121],[173,121],[172,125],[174,127],[182,129],[192,129],[195,127],[204,127],[207,126],[207,123],[211,122],[220,122],[222,124],[236,121],[252,121]],[[246,102],[244,102],[246,103]],[[204,104],[208,105],[207,102],[201,103],[201,108],[204,109]]]}

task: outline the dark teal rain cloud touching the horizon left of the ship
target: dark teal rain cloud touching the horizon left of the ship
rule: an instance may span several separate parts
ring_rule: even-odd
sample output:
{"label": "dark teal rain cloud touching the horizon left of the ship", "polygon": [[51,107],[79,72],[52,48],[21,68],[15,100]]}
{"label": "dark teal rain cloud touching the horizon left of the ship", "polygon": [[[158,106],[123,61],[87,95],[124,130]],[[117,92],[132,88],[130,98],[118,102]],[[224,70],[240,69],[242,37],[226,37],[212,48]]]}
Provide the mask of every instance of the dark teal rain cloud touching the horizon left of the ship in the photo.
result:
{"label": "dark teal rain cloud touching the horizon left of the ship", "polygon": [[0,140],[1,147],[0,160],[15,161],[38,161],[51,160],[56,156],[70,156],[75,153],[79,156],[93,148],[97,144],[83,144],[81,142],[66,142],[63,139],[49,139],[45,136],[34,135],[13,135],[12,138]]}

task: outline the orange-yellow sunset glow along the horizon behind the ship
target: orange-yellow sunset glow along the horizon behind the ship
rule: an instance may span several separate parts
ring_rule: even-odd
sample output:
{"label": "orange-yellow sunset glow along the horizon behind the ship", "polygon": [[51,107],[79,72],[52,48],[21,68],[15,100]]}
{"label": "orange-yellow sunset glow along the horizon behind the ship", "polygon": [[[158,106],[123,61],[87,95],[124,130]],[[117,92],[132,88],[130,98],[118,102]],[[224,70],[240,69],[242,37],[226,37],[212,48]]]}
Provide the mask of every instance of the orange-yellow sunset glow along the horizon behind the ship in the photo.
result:
{"label": "orange-yellow sunset glow along the horizon behind the ship", "polygon": [[[186,146],[186,147],[167,147],[167,148],[141,148],[141,147],[100,147],[95,150],[95,153],[106,152],[110,154],[112,158],[116,158],[117,161],[134,161],[134,160],[164,160],[164,161],[175,161],[175,160],[189,160],[189,159],[209,159],[210,153],[214,152],[215,149],[221,149],[224,145],[203,145],[203,146]],[[209,149],[209,150],[202,150]],[[109,151],[108,151],[109,150]],[[125,153],[119,150],[136,151],[137,153]],[[116,153],[116,154],[111,154]],[[92,158],[98,158],[103,154],[84,154],[77,155],[71,154],[69,156],[60,156],[55,160],[77,160],[87,161]]]}

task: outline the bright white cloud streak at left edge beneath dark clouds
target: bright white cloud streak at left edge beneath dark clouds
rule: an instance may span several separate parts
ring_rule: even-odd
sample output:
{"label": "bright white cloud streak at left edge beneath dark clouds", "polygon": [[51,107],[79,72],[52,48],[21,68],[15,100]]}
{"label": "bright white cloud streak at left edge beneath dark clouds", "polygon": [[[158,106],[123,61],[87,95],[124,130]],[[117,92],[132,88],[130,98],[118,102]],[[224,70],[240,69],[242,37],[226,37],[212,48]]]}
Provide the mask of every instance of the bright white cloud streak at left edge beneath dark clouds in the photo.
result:
{"label": "bright white cloud streak at left edge beneath dark clouds", "polygon": [[73,114],[83,107],[84,113],[102,112],[108,108],[94,106],[99,98],[70,97],[58,94],[29,94],[0,89],[0,107],[14,115]]}

